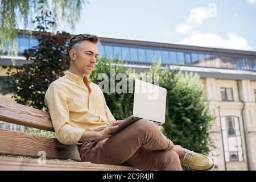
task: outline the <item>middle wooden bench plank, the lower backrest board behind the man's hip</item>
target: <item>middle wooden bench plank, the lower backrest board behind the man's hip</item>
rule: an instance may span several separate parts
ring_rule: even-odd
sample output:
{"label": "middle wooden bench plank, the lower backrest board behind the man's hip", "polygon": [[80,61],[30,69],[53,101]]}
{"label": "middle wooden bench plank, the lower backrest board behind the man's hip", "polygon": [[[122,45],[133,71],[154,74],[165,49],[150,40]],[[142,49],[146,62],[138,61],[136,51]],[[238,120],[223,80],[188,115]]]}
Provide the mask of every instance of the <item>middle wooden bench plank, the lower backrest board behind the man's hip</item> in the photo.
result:
{"label": "middle wooden bench plank, the lower backrest board behind the man's hip", "polygon": [[46,152],[46,158],[81,160],[76,145],[65,145],[55,138],[0,129],[0,154],[39,157]]}

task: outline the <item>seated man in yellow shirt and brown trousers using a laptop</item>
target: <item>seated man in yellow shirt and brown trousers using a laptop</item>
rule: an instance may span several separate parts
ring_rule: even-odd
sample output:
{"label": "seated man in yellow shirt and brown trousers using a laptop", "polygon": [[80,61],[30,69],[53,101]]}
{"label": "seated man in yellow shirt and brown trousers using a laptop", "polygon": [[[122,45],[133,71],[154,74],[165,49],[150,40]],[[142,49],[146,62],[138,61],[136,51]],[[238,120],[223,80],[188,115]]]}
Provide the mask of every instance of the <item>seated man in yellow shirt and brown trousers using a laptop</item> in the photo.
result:
{"label": "seated man in yellow shirt and brown trousers using a laptop", "polygon": [[57,139],[63,144],[77,144],[81,160],[91,163],[142,170],[181,170],[181,164],[193,170],[212,168],[212,159],[174,145],[147,119],[110,135],[122,121],[115,121],[101,89],[85,76],[96,64],[99,42],[96,35],[73,36],[69,70],[47,89],[45,104]]}

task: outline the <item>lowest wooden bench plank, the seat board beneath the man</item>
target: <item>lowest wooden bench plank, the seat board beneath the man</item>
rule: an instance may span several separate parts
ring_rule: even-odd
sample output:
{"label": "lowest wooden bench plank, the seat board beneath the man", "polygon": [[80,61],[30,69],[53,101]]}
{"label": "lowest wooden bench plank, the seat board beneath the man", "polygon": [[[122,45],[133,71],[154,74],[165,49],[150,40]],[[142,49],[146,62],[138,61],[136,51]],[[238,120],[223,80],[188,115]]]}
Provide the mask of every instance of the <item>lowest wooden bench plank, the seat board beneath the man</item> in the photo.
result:
{"label": "lowest wooden bench plank, the seat board beneath the man", "polygon": [[46,164],[38,163],[38,159],[18,159],[9,157],[0,157],[0,170],[1,171],[30,171],[30,170],[83,170],[83,171],[93,171],[93,170],[125,170],[134,171],[133,167],[128,166],[114,166],[108,164],[90,164],[86,162],[62,162],[46,160]]}

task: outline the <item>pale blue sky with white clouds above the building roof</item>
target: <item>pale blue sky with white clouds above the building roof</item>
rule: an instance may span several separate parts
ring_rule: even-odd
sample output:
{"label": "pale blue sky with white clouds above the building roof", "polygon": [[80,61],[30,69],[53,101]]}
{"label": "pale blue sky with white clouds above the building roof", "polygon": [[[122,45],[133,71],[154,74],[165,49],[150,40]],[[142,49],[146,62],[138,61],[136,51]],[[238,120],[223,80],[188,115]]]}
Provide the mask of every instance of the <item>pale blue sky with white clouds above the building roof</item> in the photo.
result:
{"label": "pale blue sky with white clouds above the building roof", "polygon": [[256,51],[256,0],[88,0],[72,34]]}

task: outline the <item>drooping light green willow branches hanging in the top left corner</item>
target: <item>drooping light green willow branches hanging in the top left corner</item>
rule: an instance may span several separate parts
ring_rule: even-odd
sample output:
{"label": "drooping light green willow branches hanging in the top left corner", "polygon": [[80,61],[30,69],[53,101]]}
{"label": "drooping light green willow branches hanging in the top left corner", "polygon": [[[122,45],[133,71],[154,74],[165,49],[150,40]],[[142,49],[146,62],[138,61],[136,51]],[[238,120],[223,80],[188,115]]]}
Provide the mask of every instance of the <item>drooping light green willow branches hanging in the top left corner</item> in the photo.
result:
{"label": "drooping light green willow branches hanging in the top left corner", "polygon": [[4,54],[7,42],[9,42],[8,54],[17,55],[15,40],[17,22],[23,22],[24,28],[27,28],[34,16],[44,16],[47,10],[53,12],[55,22],[61,19],[70,24],[72,29],[74,28],[80,18],[84,0],[51,2],[50,8],[48,0],[0,0],[0,55]]}

